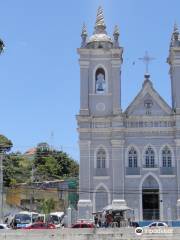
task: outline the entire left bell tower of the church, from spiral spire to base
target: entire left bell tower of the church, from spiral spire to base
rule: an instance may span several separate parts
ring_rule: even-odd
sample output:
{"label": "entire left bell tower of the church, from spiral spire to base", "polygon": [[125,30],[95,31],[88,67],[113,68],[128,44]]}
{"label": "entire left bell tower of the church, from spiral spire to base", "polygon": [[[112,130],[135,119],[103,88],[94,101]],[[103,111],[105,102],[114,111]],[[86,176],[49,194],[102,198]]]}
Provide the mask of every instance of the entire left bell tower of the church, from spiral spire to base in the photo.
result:
{"label": "entire left bell tower of the church, from spiral spire to base", "polygon": [[[86,219],[91,218],[90,214],[100,205],[105,207],[113,200],[115,196],[111,196],[109,191],[112,188],[113,174],[117,169],[119,176],[120,169],[123,169],[118,165],[123,164],[123,161],[112,161],[112,158],[116,159],[115,151],[117,152],[114,144],[122,141],[113,141],[114,133],[111,133],[111,126],[122,125],[123,48],[119,45],[117,26],[113,37],[108,36],[101,7],[97,11],[93,35],[88,37],[86,26],[83,25],[81,38],[81,47],[77,50],[80,56],[80,112],[77,116],[80,148],[78,209],[79,218]],[[111,152],[112,146],[114,150]],[[119,188],[123,180],[118,177],[116,179],[113,187],[123,189],[123,186]],[[103,199],[103,204],[100,198]]]}

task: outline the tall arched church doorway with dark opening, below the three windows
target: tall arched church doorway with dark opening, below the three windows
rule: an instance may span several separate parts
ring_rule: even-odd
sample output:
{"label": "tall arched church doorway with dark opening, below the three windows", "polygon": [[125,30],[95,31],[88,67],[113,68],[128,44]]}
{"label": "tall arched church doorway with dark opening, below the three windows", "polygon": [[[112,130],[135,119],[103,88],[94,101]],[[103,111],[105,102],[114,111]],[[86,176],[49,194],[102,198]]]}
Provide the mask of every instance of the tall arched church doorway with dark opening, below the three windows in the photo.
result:
{"label": "tall arched church doorway with dark opening, below the three windows", "polygon": [[160,218],[159,184],[153,176],[148,176],[142,185],[143,220]]}

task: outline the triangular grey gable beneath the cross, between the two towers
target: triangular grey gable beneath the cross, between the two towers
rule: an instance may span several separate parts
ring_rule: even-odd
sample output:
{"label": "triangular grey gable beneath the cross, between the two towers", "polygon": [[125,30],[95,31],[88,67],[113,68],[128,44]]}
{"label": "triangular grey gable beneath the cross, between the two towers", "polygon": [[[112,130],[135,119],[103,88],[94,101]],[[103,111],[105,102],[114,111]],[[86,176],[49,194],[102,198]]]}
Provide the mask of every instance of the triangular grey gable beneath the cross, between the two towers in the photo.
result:
{"label": "triangular grey gable beneath the cross, between the two towers", "polygon": [[145,102],[152,102],[151,115],[170,115],[172,113],[171,107],[153,88],[152,82],[149,80],[149,75],[145,75],[141,91],[132,101],[132,103],[125,110],[127,115],[146,115]]}

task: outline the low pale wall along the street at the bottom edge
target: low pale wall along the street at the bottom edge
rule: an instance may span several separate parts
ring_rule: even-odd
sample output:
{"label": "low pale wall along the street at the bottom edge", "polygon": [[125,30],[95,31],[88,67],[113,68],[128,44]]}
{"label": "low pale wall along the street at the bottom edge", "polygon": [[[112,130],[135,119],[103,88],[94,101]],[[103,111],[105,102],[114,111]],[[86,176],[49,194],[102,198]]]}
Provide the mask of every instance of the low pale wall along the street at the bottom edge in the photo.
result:
{"label": "low pale wall along the street at the bottom edge", "polygon": [[180,228],[173,232],[135,234],[134,228],[0,230],[0,240],[180,240]]}

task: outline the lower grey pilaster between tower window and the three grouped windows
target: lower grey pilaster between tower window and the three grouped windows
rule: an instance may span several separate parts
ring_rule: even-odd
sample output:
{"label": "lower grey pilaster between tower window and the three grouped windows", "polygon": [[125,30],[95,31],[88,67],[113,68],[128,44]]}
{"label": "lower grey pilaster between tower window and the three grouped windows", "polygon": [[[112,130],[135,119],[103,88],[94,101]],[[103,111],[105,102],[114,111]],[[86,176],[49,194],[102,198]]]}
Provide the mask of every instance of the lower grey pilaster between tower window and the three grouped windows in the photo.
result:
{"label": "lower grey pilaster between tower window and the three grouped windows", "polygon": [[111,140],[112,144],[112,199],[124,199],[124,140]]}

